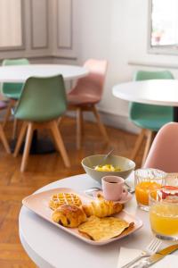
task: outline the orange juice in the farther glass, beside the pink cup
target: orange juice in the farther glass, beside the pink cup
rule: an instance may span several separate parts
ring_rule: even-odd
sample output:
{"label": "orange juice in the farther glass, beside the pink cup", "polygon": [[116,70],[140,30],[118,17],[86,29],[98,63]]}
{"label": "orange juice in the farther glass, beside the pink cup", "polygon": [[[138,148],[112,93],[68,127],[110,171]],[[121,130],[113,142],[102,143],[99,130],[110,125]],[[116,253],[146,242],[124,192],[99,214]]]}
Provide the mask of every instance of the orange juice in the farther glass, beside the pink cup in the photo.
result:
{"label": "orange juice in the farther glass, beside the pink cup", "polygon": [[162,185],[155,181],[142,181],[135,187],[135,197],[139,204],[149,205],[150,190],[161,188]]}

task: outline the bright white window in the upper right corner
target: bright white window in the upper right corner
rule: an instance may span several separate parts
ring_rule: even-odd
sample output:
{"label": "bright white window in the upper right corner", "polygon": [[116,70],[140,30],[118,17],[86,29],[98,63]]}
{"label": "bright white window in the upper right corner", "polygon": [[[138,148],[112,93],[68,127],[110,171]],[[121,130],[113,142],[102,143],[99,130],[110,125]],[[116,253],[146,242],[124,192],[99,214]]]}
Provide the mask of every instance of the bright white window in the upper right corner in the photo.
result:
{"label": "bright white window in the upper right corner", "polygon": [[150,49],[178,53],[177,0],[150,0]]}

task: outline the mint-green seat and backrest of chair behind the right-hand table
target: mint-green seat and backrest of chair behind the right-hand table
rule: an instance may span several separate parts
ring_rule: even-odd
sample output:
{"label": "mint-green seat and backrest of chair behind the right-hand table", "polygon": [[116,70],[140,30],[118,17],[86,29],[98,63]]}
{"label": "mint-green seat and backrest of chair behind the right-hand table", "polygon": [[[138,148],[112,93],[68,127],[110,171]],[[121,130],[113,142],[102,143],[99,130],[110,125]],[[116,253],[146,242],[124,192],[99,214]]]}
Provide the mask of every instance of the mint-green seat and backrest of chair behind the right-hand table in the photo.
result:
{"label": "mint-green seat and backrest of chair behind the right-hand table", "polygon": [[[139,80],[173,80],[174,76],[170,71],[137,71],[134,76],[135,81]],[[158,113],[170,114],[173,118],[173,107],[160,106],[160,105],[144,105],[139,103],[130,103],[129,117],[134,120],[137,114],[145,113]]]}

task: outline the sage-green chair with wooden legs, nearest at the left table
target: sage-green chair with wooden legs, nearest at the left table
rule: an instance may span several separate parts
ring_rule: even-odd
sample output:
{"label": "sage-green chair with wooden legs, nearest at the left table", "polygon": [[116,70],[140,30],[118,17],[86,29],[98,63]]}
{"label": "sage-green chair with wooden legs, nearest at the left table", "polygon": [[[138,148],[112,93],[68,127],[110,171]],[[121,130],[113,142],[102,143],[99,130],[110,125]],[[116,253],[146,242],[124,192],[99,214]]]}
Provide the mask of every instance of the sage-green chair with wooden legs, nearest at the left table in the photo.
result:
{"label": "sage-green chair with wooden legs, nearest at the left table", "polygon": [[33,132],[38,129],[49,129],[52,131],[55,146],[61,152],[63,162],[66,167],[70,166],[69,157],[57,124],[59,117],[66,112],[66,109],[66,93],[61,75],[49,78],[32,77],[26,81],[14,112],[15,119],[24,121],[15,147],[14,156],[19,154],[20,146],[27,130],[20,167],[21,172],[26,170]]}

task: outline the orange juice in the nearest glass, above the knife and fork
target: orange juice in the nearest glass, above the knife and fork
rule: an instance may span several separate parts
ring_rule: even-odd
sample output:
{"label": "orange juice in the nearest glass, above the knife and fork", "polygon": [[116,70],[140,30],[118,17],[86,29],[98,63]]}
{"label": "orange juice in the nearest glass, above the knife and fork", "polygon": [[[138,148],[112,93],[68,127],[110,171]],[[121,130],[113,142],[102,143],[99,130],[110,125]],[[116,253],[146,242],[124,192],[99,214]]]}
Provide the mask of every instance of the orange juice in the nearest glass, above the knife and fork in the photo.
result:
{"label": "orange juice in the nearest glass, above the knife and fork", "polygon": [[178,235],[178,205],[164,203],[150,207],[150,226],[158,234]]}

